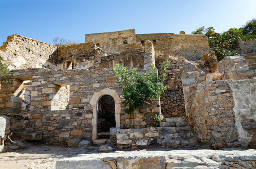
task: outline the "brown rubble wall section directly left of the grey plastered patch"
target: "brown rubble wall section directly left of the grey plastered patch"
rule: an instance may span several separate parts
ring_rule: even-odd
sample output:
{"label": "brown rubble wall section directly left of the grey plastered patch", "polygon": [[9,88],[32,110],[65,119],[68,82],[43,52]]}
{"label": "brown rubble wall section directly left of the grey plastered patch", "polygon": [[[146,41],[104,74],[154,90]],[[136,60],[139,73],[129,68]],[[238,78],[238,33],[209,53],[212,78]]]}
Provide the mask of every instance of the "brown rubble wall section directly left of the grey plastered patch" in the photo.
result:
{"label": "brown rubble wall section directly left of the grey plastered patch", "polygon": [[229,81],[206,81],[203,72],[183,74],[186,116],[198,139],[215,148],[238,146]]}

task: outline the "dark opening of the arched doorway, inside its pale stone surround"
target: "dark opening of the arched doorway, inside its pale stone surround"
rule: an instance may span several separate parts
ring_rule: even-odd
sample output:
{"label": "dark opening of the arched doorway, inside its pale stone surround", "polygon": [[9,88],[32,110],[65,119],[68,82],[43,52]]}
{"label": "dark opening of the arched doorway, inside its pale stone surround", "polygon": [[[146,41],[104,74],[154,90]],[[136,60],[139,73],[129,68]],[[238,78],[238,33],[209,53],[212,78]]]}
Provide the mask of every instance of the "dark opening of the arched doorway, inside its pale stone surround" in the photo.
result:
{"label": "dark opening of the arched doorway, inside its pale stone surround", "polygon": [[115,127],[115,100],[104,95],[98,101],[98,139],[110,139],[111,127]]}

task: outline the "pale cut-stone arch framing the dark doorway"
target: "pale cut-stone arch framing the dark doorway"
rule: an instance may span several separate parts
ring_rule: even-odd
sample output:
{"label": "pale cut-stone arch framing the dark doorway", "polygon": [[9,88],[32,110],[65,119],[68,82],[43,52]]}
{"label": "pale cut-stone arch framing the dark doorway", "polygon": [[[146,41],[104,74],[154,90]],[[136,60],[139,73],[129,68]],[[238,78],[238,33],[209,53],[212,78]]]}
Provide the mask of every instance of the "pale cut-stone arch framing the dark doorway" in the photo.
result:
{"label": "pale cut-stone arch framing the dark doorway", "polygon": [[92,98],[90,99],[89,103],[92,105],[93,109],[93,118],[92,118],[92,140],[95,142],[97,140],[97,119],[98,119],[98,112],[97,112],[97,106],[98,106],[98,101],[99,99],[104,96],[104,95],[110,95],[113,97],[115,101],[115,122],[116,122],[116,127],[120,127],[120,114],[122,112],[121,108],[121,99],[118,96],[118,93],[115,90],[112,90],[110,88],[104,88],[101,91],[94,92]]}

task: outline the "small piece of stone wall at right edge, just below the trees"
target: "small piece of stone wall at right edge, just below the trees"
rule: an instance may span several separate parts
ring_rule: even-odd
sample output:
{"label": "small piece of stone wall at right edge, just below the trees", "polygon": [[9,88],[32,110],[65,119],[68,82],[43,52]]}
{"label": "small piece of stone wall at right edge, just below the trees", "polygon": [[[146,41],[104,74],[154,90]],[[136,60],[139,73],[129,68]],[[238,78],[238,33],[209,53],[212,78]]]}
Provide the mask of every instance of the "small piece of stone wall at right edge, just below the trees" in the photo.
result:
{"label": "small piece of stone wall at right edge, just below the trees", "polygon": [[240,54],[250,54],[256,52],[256,40],[238,40],[238,48],[240,48]]}

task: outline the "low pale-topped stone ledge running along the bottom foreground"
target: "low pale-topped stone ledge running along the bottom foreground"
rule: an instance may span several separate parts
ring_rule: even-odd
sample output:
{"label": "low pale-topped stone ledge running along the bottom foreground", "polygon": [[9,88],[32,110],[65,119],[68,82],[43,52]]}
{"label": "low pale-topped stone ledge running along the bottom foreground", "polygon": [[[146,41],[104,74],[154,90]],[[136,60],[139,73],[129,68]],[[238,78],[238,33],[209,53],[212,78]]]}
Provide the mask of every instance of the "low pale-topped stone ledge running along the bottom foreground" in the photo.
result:
{"label": "low pale-topped stone ledge running along the bottom foreground", "polygon": [[256,150],[122,150],[59,159],[56,168],[255,168]]}

